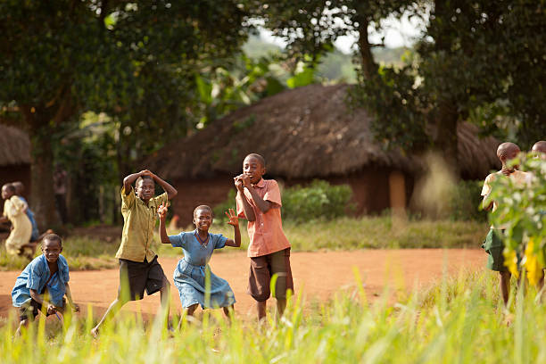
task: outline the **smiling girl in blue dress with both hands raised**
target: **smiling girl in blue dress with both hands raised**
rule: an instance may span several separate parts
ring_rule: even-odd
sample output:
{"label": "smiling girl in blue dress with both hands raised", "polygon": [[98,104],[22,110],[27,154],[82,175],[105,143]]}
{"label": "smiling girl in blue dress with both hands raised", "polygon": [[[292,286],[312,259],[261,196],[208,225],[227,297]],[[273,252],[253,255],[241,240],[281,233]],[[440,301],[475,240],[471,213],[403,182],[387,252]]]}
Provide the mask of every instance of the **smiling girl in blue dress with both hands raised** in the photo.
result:
{"label": "smiling girl in blue dress with both hands raised", "polygon": [[[174,284],[180,294],[182,308],[186,310],[187,315],[193,316],[199,304],[203,309],[221,307],[229,318],[234,310],[235,295],[225,279],[211,272],[208,263],[211,261],[211,255],[215,249],[221,249],[226,245],[236,248],[241,246],[239,219],[235,211],[233,209],[229,209],[229,212],[226,211],[229,218],[227,223],[232,225],[235,230],[235,240],[232,240],[221,234],[209,233],[209,228],[212,225],[212,210],[206,205],[197,206],[194,210],[194,225],[196,227],[194,231],[183,231],[178,235],[168,236],[165,228],[167,210],[165,204],[161,204],[157,209],[160,217],[161,243],[171,244],[184,251],[184,258],[178,261],[177,269],[173,275]],[[210,283],[205,282],[206,276],[210,276]],[[209,284],[210,289],[207,290],[205,287]]]}

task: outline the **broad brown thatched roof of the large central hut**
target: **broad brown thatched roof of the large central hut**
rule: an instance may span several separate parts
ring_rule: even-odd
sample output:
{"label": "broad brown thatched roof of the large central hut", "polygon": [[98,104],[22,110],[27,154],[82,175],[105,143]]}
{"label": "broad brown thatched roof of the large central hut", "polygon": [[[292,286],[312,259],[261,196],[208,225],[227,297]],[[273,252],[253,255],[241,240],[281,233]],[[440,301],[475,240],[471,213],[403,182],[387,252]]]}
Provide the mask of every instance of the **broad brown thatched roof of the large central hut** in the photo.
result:
{"label": "broad brown thatched roof of the large central hut", "polygon": [[[323,178],[372,165],[421,170],[418,156],[385,151],[373,141],[367,112],[345,103],[348,87],[310,85],[262,99],[165,146],[144,166],[164,178],[201,178],[235,174],[246,154],[261,153],[269,173],[285,178]],[[479,139],[469,124],[458,133],[461,172],[483,178],[496,163],[499,143]]]}

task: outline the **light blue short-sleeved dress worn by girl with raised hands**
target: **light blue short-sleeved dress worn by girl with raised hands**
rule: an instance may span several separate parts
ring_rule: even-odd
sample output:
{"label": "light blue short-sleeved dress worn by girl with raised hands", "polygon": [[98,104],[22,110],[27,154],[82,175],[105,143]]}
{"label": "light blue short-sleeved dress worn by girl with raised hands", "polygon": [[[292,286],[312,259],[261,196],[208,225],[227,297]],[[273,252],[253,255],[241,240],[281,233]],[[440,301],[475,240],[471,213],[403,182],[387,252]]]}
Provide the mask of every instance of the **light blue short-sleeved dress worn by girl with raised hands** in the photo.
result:
{"label": "light blue short-sleeved dress worn by girl with raised hands", "polygon": [[209,234],[209,240],[203,246],[195,234],[196,231],[169,236],[170,244],[184,251],[184,258],[178,261],[173,275],[182,307],[195,303],[203,309],[231,306],[236,302],[235,294],[225,279],[212,273],[208,264],[212,252],[226,246],[227,238],[221,234]]}

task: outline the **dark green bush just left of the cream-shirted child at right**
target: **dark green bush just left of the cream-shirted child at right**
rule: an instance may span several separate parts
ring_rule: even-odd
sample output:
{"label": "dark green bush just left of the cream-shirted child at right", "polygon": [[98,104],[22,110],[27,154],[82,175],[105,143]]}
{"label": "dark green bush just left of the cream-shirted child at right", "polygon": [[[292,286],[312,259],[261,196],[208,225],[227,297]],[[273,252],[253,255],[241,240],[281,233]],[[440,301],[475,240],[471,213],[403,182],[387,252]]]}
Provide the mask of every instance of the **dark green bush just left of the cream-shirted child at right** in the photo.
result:
{"label": "dark green bush just left of the cream-shirted child at right", "polygon": [[486,221],[487,213],[480,211],[484,181],[459,181],[450,198],[450,219]]}

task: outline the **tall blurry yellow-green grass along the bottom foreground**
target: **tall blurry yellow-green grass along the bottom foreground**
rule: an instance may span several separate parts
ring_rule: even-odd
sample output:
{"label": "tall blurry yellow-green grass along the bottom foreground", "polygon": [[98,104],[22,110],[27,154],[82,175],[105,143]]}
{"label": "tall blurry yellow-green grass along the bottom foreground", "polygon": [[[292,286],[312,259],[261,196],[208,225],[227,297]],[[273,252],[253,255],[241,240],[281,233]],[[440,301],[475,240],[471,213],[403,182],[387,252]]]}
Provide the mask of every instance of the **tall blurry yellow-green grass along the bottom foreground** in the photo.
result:
{"label": "tall blurry yellow-green grass along the bottom foreground", "polygon": [[289,301],[285,318],[265,326],[219,310],[168,335],[159,321],[131,316],[104,327],[94,340],[93,318],[44,322],[12,340],[13,323],[0,327],[0,361],[97,363],[534,363],[546,360],[546,310],[534,294],[512,296],[501,309],[496,277],[463,274],[394,306],[368,304],[363,291],[338,294],[302,310]]}

